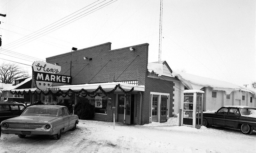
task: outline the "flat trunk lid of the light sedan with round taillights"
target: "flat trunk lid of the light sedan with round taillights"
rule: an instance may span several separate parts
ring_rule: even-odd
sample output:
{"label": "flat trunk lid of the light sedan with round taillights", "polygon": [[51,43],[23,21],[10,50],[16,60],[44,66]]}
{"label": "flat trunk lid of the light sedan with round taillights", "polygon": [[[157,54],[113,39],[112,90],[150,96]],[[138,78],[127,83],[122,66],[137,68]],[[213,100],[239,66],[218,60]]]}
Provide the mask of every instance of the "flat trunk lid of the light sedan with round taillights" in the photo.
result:
{"label": "flat trunk lid of the light sedan with round taillights", "polygon": [[13,117],[5,120],[5,122],[49,122],[58,116],[48,116],[48,115],[20,115],[18,117]]}

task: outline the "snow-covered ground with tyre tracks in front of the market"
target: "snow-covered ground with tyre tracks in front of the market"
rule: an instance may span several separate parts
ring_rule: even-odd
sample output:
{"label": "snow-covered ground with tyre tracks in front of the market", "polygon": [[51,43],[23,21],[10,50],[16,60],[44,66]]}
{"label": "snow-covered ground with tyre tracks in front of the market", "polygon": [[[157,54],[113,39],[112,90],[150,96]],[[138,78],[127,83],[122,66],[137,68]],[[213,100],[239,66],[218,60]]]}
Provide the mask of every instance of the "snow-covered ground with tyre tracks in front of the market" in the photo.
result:
{"label": "snow-covered ground with tyre tracks in front of the market", "polygon": [[99,153],[253,153],[256,152],[256,132],[244,135],[240,130],[178,126],[178,117],[166,123],[153,122],[127,125],[116,122],[79,120],[75,131],[62,133],[60,140],[51,136],[2,134],[0,152],[99,152]]}

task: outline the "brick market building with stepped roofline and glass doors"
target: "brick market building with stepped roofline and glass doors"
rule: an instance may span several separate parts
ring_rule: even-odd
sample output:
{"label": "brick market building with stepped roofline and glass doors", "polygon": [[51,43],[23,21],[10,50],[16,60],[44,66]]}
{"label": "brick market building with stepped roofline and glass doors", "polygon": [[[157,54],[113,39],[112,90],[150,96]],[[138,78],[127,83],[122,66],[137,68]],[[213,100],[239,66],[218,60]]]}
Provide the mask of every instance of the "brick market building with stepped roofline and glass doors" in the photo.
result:
{"label": "brick market building with stepped roofline and glass doors", "polygon": [[[59,74],[71,75],[71,85],[53,83],[51,89],[53,92],[61,89],[62,91],[94,91],[101,86],[106,92],[113,90],[116,85],[129,91],[124,93],[117,89],[113,94],[104,95],[98,92],[100,96],[73,95],[65,98],[51,97],[51,95],[42,99],[48,104],[64,102],[77,104],[81,101],[88,101],[95,106],[94,119],[113,121],[115,120],[128,124],[147,124],[152,121],[166,122],[173,116],[173,80],[168,76],[162,76],[148,71],[148,45],[141,44],[125,48],[111,50],[111,43],[84,48],[52,57],[46,58],[47,63],[61,66]],[[164,67],[171,72],[171,69],[164,62]],[[158,77],[158,78],[157,78]],[[32,80],[32,87],[34,87]],[[125,97],[125,98],[124,98]],[[46,100],[47,99],[47,100]],[[97,106],[97,102],[102,104]],[[114,110],[113,107],[116,107]]]}

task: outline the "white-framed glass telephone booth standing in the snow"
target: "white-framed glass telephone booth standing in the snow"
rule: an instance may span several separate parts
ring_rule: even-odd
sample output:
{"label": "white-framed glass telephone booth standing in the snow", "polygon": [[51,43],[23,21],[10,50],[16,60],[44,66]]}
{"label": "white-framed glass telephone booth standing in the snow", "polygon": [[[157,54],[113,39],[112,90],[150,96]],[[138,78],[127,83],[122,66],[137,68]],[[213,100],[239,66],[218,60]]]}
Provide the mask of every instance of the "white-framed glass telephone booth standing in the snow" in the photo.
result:
{"label": "white-framed glass telephone booth standing in the snow", "polygon": [[203,95],[202,90],[183,91],[182,125],[192,125],[193,128],[200,129],[203,120]]}

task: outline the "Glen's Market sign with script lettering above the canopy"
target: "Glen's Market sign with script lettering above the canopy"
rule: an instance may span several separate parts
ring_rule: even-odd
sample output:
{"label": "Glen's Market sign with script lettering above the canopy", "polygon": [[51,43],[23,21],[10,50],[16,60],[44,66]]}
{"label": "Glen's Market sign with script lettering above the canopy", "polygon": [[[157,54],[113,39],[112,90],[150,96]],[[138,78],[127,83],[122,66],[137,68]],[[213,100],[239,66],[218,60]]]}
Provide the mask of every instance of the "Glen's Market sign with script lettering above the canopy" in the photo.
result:
{"label": "Glen's Market sign with script lettering above the canopy", "polygon": [[50,63],[36,61],[32,64],[33,77],[36,87],[40,90],[46,90],[55,83],[71,84],[71,76],[60,75],[61,66]]}

